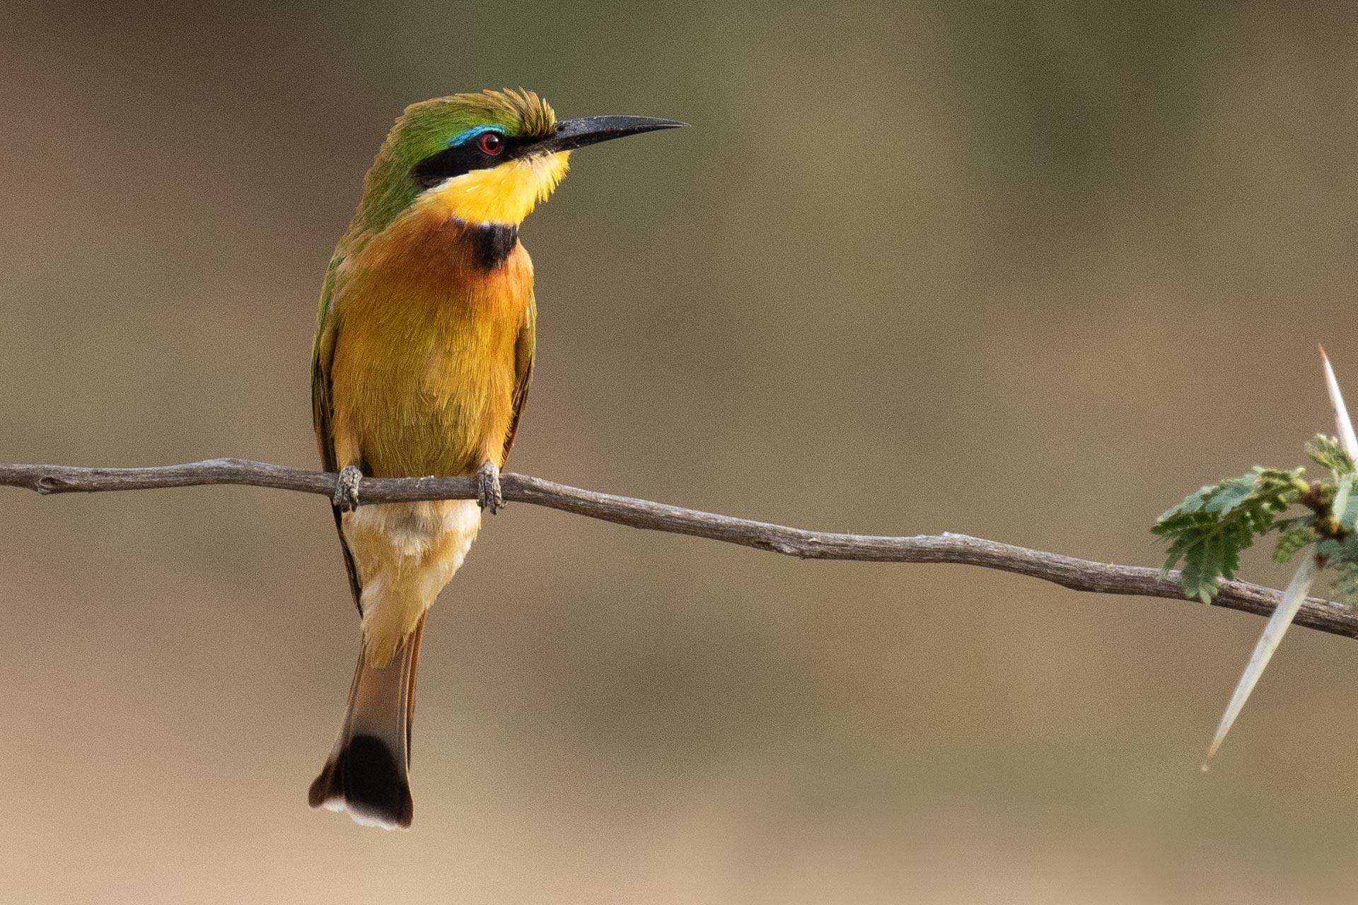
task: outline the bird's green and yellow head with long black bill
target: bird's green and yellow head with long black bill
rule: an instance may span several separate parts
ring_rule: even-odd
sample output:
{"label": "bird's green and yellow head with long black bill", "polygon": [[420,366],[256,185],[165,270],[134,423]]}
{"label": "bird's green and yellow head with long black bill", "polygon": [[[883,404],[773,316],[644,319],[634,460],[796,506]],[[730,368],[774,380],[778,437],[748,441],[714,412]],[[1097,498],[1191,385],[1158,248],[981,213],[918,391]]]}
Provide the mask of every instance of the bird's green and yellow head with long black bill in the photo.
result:
{"label": "bird's green and yellow head with long black bill", "polygon": [[354,227],[378,232],[411,205],[466,223],[517,225],[566,175],[576,148],[684,123],[652,117],[557,119],[531,91],[410,104],[364,180]]}

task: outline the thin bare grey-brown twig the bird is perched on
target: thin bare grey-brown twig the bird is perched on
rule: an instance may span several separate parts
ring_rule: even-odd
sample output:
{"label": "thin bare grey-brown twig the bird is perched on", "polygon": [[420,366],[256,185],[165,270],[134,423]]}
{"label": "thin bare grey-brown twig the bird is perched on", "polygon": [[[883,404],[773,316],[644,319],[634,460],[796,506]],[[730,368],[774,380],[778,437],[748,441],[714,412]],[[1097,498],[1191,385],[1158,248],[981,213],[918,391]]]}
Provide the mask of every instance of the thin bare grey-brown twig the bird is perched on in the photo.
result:
{"label": "thin bare grey-brown twig the bird is perched on", "polygon": [[[1177,571],[1161,574],[1158,569],[1145,566],[1096,563],[968,535],[942,533],[911,537],[841,535],[717,516],[649,499],[600,494],[527,475],[507,472],[500,476],[500,483],[505,499],[511,502],[547,506],[631,528],[708,537],[801,559],[956,563],[1040,578],[1071,590],[1184,600]],[[334,491],[335,475],[244,459],[209,459],[183,465],[147,468],[0,464],[0,486],[27,487],[39,494],[152,490],[200,484],[272,487],[329,498]],[[418,499],[474,499],[475,497],[474,478],[368,478],[364,479],[360,488],[364,505]],[[1281,598],[1282,594],[1270,588],[1243,581],[1226,581],[1221,583],[1221,590],[1213,605],[1268,616]],[[1358,638],[1358,616],[1343,604],[1319,597],[1306,598],[1297,613],[1296,623],[1334,635]]]}

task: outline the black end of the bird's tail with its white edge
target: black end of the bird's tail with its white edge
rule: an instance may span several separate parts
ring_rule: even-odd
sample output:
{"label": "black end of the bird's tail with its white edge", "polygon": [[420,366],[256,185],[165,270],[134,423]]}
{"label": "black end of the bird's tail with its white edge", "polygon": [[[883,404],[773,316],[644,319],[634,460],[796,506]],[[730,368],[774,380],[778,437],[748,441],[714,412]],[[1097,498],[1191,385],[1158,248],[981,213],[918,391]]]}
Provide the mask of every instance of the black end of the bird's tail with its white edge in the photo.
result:
{"label": "black end of the bird's tail with its white edge", "polygon": [[376,735],[354,735],[311,783],[312,807],[348,810],[360,824],[405,829],[414,820],[410,780]]}

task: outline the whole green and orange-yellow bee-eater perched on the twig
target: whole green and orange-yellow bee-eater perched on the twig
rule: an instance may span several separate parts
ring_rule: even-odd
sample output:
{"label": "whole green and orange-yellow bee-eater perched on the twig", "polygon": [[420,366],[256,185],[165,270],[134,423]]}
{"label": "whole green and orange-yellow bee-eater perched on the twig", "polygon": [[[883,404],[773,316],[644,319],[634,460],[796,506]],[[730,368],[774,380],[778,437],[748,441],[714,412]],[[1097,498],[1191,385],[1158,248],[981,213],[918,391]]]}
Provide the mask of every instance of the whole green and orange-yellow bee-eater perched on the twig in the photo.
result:
{"label": "whole green and orange-yellow bee-eater perched on the twig", "polygon": [[[363,180],[320,290],[311,399],[363,646],[312,807],[409,826],[425,612],[462,566],[532,377],[532,262],[519,225],[576,148],[684,123],[557,121],[531,91],[406,107]],[[479,499],[360,506],[364,476],[477,475]]]}

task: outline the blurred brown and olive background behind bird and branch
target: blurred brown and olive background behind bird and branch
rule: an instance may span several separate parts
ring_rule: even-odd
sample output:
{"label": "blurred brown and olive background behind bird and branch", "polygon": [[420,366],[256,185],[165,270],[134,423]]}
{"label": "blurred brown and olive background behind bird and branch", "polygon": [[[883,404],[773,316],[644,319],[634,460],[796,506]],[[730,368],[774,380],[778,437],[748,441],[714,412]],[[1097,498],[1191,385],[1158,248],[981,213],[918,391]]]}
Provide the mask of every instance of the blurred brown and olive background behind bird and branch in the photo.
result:
{"label": "blurred brown and olive background behind bird and branch", "polygon": [[[1316,341],[1358,396],[1358,16],[1300,5],[7,4],[0,460],[314,465],[372,153],[523,84],[693,128],[528,221],[513,469],[1157,564],[1165,506],[1329,429]],[[1203,775],[1259,619],[515,505],[383,834],[304,801],[357,649],[320,499],[0,505],[5,901],[1358,896],[1339,638],[1289,636]]]}

